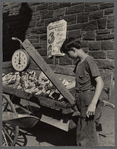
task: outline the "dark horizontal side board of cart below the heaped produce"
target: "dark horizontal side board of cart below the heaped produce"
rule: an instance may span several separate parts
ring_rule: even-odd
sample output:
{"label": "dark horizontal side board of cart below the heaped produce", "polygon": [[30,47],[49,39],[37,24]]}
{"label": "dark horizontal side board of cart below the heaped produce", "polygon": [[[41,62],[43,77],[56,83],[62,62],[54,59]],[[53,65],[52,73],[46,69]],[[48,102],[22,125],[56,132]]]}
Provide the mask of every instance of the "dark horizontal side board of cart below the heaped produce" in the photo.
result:
{"label": "dark horizontal side board of cart below the heaped produce", "polygon": [[[43,97],[39,95],[35,96],[33,94],[24,92],[22,90],[19,90],[19,89],[13,88],[12,86],[4,85],[4,84],[2,89],[3,89],[3,93],[15,95],[17,97],[32,101],[38,105],[49,107],[51,109],[62,110],[64,114],[73,112],[73,110],[71,108],[68,108],[65,104],[47,97]],[[35,97],[37,98],[37,100],[34,100]]]}

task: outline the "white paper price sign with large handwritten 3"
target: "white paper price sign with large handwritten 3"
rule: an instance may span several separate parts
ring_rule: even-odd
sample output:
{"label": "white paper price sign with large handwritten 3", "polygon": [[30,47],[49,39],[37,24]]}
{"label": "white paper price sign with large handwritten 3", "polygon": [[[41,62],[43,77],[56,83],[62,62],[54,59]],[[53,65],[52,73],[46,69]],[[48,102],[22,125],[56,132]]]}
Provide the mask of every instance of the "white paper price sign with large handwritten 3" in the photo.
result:
{"label": "white paper price sign with large handwritten 3", "polygon": [[50,23],[47,27],[47,56],[48,58],[55,56],[64,56],[60,52],[63,42],[66,39],[67,22],[60,20]]}

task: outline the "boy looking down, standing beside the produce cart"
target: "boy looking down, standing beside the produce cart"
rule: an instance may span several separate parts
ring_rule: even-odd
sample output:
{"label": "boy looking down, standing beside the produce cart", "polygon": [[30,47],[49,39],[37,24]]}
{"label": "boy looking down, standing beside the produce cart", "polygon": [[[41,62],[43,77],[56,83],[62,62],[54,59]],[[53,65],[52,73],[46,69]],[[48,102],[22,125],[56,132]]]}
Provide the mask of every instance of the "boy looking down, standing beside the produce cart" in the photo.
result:
{"label": "boy looking down, standing beside the produce cart", "polygon": [[98,146],[96,126],[101,117],[101,102],[99,100],[104,83],[95,60],[87,55],[79,41],[73,38],[66,39],[61,52],[76,60],[74,73],[75,80],[66,86],[75,87],[76,104],[80,111],[77,124],[76,140],[78,146]]}

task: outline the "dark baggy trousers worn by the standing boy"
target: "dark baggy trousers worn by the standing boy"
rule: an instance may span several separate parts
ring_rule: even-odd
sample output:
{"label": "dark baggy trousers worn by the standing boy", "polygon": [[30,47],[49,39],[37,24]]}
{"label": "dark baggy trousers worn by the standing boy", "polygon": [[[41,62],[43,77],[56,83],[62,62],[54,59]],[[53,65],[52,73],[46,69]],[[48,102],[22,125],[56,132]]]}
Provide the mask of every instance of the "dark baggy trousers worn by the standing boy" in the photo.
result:
{"label": "dark baggy trousers worn by the standing boy", "polygon": [[77,124],[76,142],[77,146],[98,146],[99,138],[96,127],[99,124],[101,117],[100,100],[97,103],[95,116],[86,117],[86,112],[89,104],[94,96],[94,91],[85,91],[76,93],[76,103],[81,115]]}

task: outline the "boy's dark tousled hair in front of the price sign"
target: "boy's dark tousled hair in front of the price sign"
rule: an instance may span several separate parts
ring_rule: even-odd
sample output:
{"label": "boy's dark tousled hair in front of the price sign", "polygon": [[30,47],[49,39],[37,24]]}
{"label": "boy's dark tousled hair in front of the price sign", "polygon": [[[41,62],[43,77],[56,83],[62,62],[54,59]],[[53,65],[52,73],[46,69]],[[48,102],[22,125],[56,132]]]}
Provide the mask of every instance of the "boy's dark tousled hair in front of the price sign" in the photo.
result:
{"label": "boy's dark tousled hair in front of the price sign", "polygon": [[78,39],[76,40],[75,38],[70,37],[64,41],[60,50],[62,53],[67,53],[68,51],[71,50],[72,47],[80,49],[81,43],[80,43],[80,41],[78,41]]}

